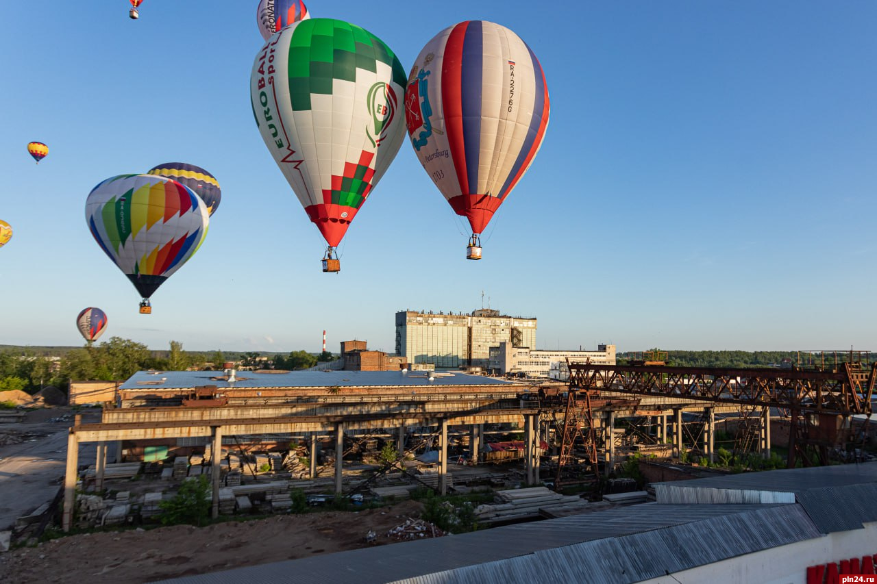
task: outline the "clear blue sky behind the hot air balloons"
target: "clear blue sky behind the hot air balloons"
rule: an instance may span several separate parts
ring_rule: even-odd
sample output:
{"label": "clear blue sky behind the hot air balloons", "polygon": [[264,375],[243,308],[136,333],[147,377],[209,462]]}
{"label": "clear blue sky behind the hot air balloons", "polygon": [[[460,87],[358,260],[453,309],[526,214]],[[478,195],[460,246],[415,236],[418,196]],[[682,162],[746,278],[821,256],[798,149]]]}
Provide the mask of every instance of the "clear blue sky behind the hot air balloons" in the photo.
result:
{"label": "clear blue sky behind the hot air balloons", "polygon": [[[396,310],[538,317],[538,348],[877,349],[877,4],[318,2],[406,71],[448,25],[510,27],[551,123],[484,260],[406,139],[323,274],[324,241],[267,152],[248,83],[256,0],[0,3],[0,344],[79,345],[75,317],[152,348],[395,348]],[[560,9],[561,5],[569,8]],[[51,149],[39,167],[31,140]],[[153,315],[84,220],[115,174],[217,176],[201,250]]]}

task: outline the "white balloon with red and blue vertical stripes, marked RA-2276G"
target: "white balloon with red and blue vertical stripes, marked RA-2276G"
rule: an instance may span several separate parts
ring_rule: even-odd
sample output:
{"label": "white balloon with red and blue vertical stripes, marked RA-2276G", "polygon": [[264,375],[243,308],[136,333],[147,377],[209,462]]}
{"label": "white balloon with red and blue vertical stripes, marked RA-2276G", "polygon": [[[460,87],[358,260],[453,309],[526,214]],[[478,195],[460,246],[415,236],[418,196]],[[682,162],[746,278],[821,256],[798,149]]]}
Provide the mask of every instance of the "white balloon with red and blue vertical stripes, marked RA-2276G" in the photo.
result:
{"label": "white balloon with red and blue vertical stripes, marked RA-2276G", "polygon": [[504,26],[461,22],[417,56],[405,123],[424,170],[472,226],[469,260],[481,259],[481,233],[542,145],[549,110],[536,55]]}

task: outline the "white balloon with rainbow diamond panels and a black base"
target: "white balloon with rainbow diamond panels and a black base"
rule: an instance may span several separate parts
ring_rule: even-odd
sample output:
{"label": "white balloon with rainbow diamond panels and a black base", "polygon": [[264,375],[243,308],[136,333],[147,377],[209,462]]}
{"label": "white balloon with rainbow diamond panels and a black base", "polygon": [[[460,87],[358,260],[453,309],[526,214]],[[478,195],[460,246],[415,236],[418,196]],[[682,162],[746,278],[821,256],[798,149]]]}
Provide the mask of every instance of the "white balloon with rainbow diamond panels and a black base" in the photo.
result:
{"label": "white balloon with rainbow diamond panels and a black base", "polygon": [[198,250],[210,214],[192,189],[154,174],[121,174],[92,189],[85,220],[103,252],[137,288],[140,313],[153,295]]}

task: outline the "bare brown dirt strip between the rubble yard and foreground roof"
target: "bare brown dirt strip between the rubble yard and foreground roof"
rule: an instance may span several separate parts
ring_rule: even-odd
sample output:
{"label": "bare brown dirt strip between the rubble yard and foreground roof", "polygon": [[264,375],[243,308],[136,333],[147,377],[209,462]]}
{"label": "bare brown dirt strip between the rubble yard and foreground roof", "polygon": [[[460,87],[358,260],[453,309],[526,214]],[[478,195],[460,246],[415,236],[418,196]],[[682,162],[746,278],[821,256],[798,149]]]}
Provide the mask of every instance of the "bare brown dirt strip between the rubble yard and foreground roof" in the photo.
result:
{"label": "bare brown dirt strip between the rubble yard and foreground roof", "polygon": [[[0,581],[150,582],[216,572],[368,545],[395,543],[387,531],[418,517],[415,501],[359,512],[273,516],[208,527],[103,531],[53,539],[0,554]],[[378,538],[367,544],[368,531]]]}

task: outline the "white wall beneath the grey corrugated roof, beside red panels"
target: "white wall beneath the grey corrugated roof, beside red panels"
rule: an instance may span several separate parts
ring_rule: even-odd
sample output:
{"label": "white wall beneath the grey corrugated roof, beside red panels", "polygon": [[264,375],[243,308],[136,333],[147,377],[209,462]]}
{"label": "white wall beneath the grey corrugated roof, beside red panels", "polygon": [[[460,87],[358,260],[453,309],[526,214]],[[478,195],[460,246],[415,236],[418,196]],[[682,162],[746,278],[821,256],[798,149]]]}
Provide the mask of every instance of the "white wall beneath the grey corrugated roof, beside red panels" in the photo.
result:
{"label": "white wall beneath the grey corrugated roof, beside red panels", "polygon": [[865,529],[839,531],[822,538],[781,545],[763,552],[747,553],[737,558],[642,581],[661,584],[679,584],[679,582],[805,584],[807,566],[861,558],[874,553],[877,553],[877,523],[865,523]]}

